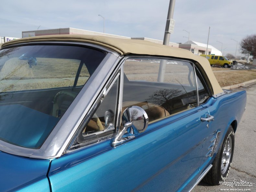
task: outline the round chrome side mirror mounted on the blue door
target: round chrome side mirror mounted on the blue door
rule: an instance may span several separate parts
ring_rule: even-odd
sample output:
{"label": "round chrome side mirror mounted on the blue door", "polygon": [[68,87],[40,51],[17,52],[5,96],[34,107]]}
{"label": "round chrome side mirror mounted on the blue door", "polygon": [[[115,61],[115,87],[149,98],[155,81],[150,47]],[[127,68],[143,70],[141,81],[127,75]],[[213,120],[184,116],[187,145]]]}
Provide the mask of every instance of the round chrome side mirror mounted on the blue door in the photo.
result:
{"label": "round chrome side mirror mounted on the blue door", "polygon": [[[120,132],[113,141],[112,146],[117,146],[128,140],[134,139],[134,135],[144,132],[147,126],[148,116],[143,108],[138,106],[126,108],[122,114],[122,126]],[[126,131],[134,135],[123,137]]]}

